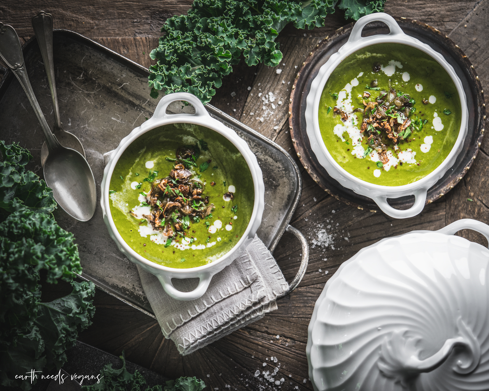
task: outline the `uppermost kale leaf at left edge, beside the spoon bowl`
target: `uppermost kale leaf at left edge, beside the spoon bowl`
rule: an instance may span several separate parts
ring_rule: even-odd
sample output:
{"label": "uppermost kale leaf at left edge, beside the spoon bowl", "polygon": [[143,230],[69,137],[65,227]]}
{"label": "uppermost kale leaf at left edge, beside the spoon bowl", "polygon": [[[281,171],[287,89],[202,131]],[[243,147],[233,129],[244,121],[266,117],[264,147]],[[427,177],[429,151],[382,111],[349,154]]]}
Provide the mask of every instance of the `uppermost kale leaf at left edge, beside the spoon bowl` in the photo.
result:
{"label": "uppermost kale leaf at left edge, beside the spoon bowl", "polygon": [[19,144],[5,145],[0,141],[0,152],[3,161],[0,162],[0,207],[12,212],[14,198],[40,212],[52,212],[56,208],[51,189],[44,180],[32,171],[26,171],[25,165],[32,155]]}

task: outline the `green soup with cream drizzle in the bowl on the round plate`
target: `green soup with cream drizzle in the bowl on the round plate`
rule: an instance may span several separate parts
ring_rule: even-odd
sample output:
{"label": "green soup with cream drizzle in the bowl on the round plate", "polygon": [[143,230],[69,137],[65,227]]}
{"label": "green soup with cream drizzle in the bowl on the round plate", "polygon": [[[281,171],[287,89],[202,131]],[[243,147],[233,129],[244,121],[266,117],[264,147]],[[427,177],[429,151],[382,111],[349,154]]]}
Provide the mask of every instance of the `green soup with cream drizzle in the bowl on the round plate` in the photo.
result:
{"label": "green soup with cream drizzle in the bowl on the round plate", "polygon": [[329,77],[319,128],[333,159],[364,181],[412,183],[452,150],[460,98],[445,69],[421,50],[379,43],[356,51]]}

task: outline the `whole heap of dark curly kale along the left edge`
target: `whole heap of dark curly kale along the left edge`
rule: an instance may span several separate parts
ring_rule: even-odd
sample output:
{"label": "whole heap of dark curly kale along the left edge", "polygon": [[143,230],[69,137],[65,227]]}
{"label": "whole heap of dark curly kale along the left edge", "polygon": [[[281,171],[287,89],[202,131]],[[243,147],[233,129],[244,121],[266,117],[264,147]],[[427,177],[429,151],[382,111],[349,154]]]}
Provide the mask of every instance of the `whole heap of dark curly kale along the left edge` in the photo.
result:
{"label": "whole heap of dark curly kale along the left edge", "polygon": [[[15,376],[66,362],[65,350],[91,323],[95,286],[72,281],[82,272],[78,248],[48,214],[56,207],[52,191],[25,170],[30,153],[3,141],[0,151],[0,207],[10,212],[0,222],[0,383],[29,390],[30,380]],[[42,269],[46,282],[71,282],[72,293],[41,303]]]}

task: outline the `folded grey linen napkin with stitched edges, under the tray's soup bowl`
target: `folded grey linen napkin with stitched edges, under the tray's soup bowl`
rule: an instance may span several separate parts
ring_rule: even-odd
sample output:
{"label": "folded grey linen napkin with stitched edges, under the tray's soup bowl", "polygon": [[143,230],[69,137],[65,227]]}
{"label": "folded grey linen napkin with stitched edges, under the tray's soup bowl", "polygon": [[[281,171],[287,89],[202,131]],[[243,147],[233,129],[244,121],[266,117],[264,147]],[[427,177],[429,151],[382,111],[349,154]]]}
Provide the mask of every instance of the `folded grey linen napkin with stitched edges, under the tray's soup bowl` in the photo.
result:
{"label": "folded grey linen napkin with stitched edges, under the tray's soup bowl", "polygon": [[[137,267],[144,293],[165,338],[182,355],[192,353],[277,309],[276,299],[289,284],[263,242],[255,236],[244,254],[215,274],[202,297],[178,301],[151,273]],[[173,279],[175,288],[191,291],[195,282]]]}

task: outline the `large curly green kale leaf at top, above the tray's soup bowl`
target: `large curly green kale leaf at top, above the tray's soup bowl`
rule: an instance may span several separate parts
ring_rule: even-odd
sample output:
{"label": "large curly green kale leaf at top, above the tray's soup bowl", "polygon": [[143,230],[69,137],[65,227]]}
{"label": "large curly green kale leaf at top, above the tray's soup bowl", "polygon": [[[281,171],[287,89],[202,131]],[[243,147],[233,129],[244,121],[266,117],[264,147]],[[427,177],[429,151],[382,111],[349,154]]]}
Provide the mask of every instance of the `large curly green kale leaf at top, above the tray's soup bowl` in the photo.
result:
{"label": "large curly green kale leaf at top, above the tray's soup bowl", "polygon": [[336,1],[195,0],[188,15],[169,18],[162,27],[166,34],[150,54],[157,63],[150,67],[149,85],[193,93],[205,104],[241,55],[247,65],[280,64],[280,30],[289,22],[324,26]]}

